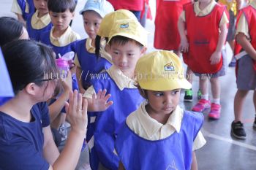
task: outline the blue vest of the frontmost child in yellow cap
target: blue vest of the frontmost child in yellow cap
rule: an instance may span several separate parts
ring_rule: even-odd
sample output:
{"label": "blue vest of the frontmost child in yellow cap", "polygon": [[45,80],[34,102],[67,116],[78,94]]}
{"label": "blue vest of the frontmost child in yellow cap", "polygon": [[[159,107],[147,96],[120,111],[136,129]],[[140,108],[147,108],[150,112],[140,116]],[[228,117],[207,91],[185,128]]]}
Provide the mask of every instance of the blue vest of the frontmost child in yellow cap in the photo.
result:
{"label": "blue vest of the frontmost child in yellow cap", "polygon": [[135,134],[125,124],[116,139],[116,152],[126,170],[189,170],[192,145],[202,125],[202,113],[185,111],[179,133],[150,141]]}

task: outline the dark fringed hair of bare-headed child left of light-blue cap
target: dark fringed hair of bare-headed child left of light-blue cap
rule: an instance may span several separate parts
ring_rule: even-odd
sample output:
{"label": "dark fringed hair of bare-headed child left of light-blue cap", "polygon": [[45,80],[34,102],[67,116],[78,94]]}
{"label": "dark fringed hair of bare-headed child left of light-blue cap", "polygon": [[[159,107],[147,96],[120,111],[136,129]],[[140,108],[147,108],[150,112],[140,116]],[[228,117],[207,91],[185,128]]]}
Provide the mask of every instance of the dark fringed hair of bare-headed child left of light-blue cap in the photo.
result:
{"label": "dark fringed hair of bare-headed child left of light-blue cap", "polygon": [[48,10],[51,12],[75,11],[75,0],[48,0]]}

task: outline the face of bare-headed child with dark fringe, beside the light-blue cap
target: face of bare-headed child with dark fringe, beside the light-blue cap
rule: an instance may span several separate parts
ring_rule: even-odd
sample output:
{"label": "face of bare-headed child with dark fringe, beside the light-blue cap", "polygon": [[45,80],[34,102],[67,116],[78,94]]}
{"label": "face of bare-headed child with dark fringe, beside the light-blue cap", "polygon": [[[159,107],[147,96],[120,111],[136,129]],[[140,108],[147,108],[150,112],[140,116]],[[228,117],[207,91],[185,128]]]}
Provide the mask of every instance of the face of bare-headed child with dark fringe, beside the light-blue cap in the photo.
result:
{"label": "face of bare-headed child with dark fringe, beside the light-blue cap", "polygon": [[65,12],[49,12],[50,20],[57,31],[64,31],[69,26],[70,21],[74,18],[75,13],[67,9]]}

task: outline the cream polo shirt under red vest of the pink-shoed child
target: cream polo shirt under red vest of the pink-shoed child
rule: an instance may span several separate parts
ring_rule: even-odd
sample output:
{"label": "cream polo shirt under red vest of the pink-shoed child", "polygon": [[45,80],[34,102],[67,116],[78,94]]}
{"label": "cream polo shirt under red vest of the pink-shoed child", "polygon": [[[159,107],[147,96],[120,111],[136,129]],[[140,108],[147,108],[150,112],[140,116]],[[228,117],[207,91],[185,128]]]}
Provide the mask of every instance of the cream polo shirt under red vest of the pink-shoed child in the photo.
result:
{"label": "cream polo shirt under red vest of the pink-shoed child", "polygon": [[[196,16],[200,16],[200,17],[208,15],[208,14],[212,11],[212,9],[214,9],[214,6],[215,6],[216,4],[217,4],[216,1],[211,0],[211,3],[208,4],[207,7],[205,7],[204,9],[200,9],[200,8],[199,8],[199,1],[196,1],[196,2],[194,3],[195,15],[196,15]],[[181,16],[180,16],[180,17],[181,17],[181,19],[182,19],[184,22],[186,22],[185,12],[184,12],[184,11],[181,12]],[[224,12],[223,15],[222,15],[222,19],[221,19],[220,22],[219,22],[219,26],[222,26],[223,24],[227,24],[228,22],[229,22],[229,20],[228,20],[228,18],[227,18],[226,13]]]}

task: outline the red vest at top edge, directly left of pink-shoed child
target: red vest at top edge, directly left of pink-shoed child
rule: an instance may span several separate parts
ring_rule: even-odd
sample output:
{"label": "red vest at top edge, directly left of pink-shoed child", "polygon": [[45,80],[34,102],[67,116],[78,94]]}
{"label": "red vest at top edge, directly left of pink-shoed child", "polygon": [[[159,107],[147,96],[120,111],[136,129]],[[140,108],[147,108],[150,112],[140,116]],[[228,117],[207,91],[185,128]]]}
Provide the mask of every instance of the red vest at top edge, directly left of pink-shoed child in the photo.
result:
{"label": "red vest at top edge, directly left of pink-shoed child", "polygon": [[178,34],[178,18],[183,10],[183,5],[191,0],[158,1],[154,47],[161,50],[178,50],[180,36]]}

